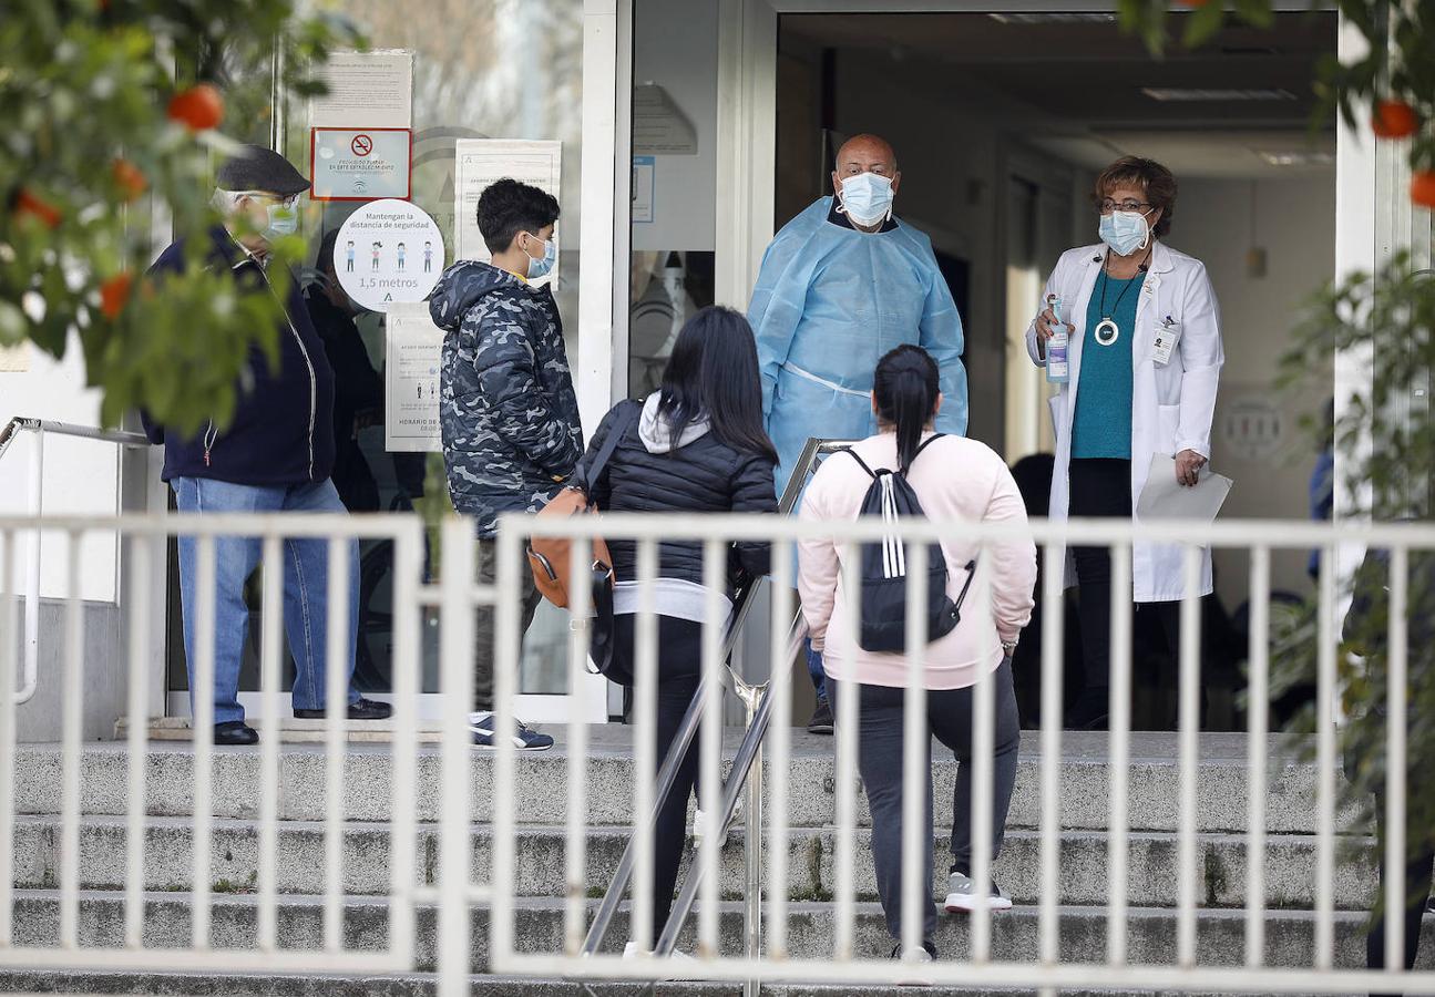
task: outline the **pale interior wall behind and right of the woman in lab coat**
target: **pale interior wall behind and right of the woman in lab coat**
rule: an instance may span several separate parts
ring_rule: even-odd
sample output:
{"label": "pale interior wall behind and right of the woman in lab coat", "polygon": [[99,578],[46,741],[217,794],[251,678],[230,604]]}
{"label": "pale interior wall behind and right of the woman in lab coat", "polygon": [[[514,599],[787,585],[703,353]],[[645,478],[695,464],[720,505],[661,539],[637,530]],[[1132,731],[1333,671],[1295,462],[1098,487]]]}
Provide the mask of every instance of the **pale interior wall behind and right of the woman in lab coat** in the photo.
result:
{"label": "pale interior wall behind and right of the woman in lab coat", "polygon": [[[1225,367],[1217,402],[1211,466],[1236,479],[1221,515],[1293,518],[1307,515],[1314,449],[1299,429],[1320,413],[1329,392],[1283,397],[1273,390],[1279,360],[1290,343],[1300,306],[1335,275],[1335,174],[1260,181],[1184,181],[1168,242],[1205,263],[1221,307]],[[1266,275],[1247,273],[1247,251],[1266,250]],[[1270,459],[1243,459],[1223,435],[1223,416],[1243,400],[1274,403],[1281,438]],[[1306,551],[1273,551],[1271,585],[1310,591]],[[1227,608],[1246,598],[1244,555],[1215,552]]]}

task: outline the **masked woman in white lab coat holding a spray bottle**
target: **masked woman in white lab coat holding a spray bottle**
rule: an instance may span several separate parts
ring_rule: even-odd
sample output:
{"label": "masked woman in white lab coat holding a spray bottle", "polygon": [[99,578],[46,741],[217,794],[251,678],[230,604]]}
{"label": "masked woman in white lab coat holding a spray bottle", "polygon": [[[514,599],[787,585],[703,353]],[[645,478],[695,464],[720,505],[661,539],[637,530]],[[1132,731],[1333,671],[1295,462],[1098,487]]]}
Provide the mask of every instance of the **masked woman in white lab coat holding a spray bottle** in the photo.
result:
{"label": "masked woman in white lab coat holding a spray bottle", "polygon": [[[1175,458],[1182,485],[1194,485],[1210,460],[1225,359],[1221,317],[1205,265],[1161,241],[1171,231],[1175,195],[1171,171],[1151,159],[1125,156],[1108,166],[1093,191],[1102,241],[1062,254],[1046,281],[1048,307],[1026,331],[1032,360],[1045,367],[1056,326],[1049,306],[1059,296],[1071,376],[1050,399],[1053,519],[1131,518],[1152,455]],[[1201,558],[1205,595],[1210,549]],[[1068,712],[1068,727],[1105,723],[1112,598],[1157,604],[1167,641],[1177,647],[1181,548],[1137,544],[1131,578],[1131,592],[1114,594],[1108,548],[1068,551],[1066,584],[1081,587],[1086,668],[1086,687]]]}

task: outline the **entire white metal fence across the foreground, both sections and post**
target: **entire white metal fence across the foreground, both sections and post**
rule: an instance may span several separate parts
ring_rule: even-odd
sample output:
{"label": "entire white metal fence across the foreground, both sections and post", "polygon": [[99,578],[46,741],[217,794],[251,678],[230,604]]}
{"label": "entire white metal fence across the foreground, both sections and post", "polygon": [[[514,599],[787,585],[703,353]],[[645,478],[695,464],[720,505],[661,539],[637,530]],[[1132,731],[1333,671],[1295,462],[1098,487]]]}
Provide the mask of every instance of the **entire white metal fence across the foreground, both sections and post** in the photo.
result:
{"label": "entire white metal fence across the foreground, both sections and post", "polygon": [[[23,549],[23,534],[33,529],[37,521],[22,518],[0,518],[0,577],[14,577],[16,552]],[[1129,902],[1129,844],[1132,819],[1141,815],[1131,812],[1132,786],[1129,783],[1131,760],[1131,713],[1129,691],[1132,681],[1132,656],[1129,643],[1129,605],[1115,600],[1112,607],[1112,676],[1111,676],[1111,730],[1109,752],[1109,822],[1106,828],[1106,862],[1109,875],[1108,899],[1105,905],[1105,945],[1102,951],[1083,953],[1081,958],[1063,951],[1060,938],[1060,865],[1062,829],[1062,782],[1060,755],[1062,739],[1059,717],[1062,714],[1062,614],[1045,614],[1042,634],[1042,697],[1043,727],[1040,732],[1040,818],[1039,818],[1039,902],[1036,905],[1035,944],[1007,944],[1003,951],[996,944],[993,924],[1003,914],[992,914],[982,904],[970,917],[969,941],[964,951],[944,953],[944,958],[931,964],[914,967],[900,960],[874,958],[870,945],[864,950],[860,940],[857,911],[858,894],[854,869],[858,865],[858,782],[855,743],[855,697],[841,697],[835,737],[835,861],[834,888],[831,898],[832,937],[831,947],[821,953],[796,954],[789,945],[791,901],[788,898],[789,828],[788,762],[792,752],[791,727],[786,717],[792,701],[792,670],[773,668],[766,696],[772,697],[773,723],[763,745],[766,772],[771,782],[765,786],[768,805],[758,811],[753,821],[749,815],[749,839],[756,838],[756,848],[748,851],[749,879],[745,931],[740,941],[733,941],[723,932],[722,895],[719,882],[719,796],[723,790],[719,778],[722,770],[720,710],[716,696],[703,703],[703,727],[699,734],[702,809],[707,819],[703,845],[695,868],[702,872],[702,885],[696,905],[695,963],[664,960],[651,955],[620,958],[618,940],[598,954],[584,955],[584,937],[591,917],[591,892],[607,882],[590,875],[587,868],[588,844],[588,762],[591,732],[587,724],[571,724],[561,737],[560,747],[567,753],[564,782],[564,806],[567,812],[564,831],[564,889],[561,904],[561,932],[558,944],[547,944],[544,938],[524,934],[519,930],[521,905],[515,884],[525,869],[521,868],[521,835],[525,833],[524,818],[518,812],[517,799],[519,780],[527,778],[524,765],[514,746],[505,737],[498,739],[492,753],[492,770],[486,783],[475,779],[475,767],[488,765],[489,756],[476,756],[471,749],[468,723],[472,690],[474,656],[474,610],[481,604],[494,604],[498,611],[498,664],[497,681],[497,729],[505,730],[512,722],[512,697],[517,690],[517,647],[519,605],[517,581],[525,572],[522,557],[524,535],[565,535],[574,539],[575,548],[585,548],[591,537],[606,539],[633,538],[639,542],[640,581],[656,574],[657,542],[690,539],[703,545],[706,555],[706,578],[715,587],[726,570],[726,547],[738,539],[768,541],[773,544],[773,587],[772,618],[791,618],[794,611],[792,571],[794,542],[809,535],[832,535],[831,524],[802,524],[794,519],[758,516],[603,516],[577,518],[565,522],[548,519],[507,519],[499,535],[498,580],[494,585],[475,585],[475,547],[472,524],[451,521],[442,532],[442,581],[428,585],[422,578],[423,532],[416,518],[405,516],[202,516],[202,518],[119,518],[119,519],[66,519],[46,518],[46,531],[65,537],[69,551],[69,591],[73,594],[75,577],[82,571],[79,562],[79,538],[86,531],[118,531],[125,539],[126,600],[125,614],[129,628],[129,729],[128,767],[125,786],[125,881],[123,881],[123,930],[115,938],[89,937],[82,921],[82,878],[80,878],[80,825],[88,800],[82,789],[85,745],[80,739],[83,709],[83,641],[82,604],[72,598],[66,611],[66,627],[62,634],[46,635],[63,641],[65,668],[60,681],[66,690],[66,712],[60,745],[60,806],[59,833],[59,881],[56,891],[57,930],[53,937],[43,932],[17,931],[14,920],[17,891],[14,888],[14,828],[17,818],[16,760],[19,746],[14,737],[16,707],[10,696],[0,696],[0,971],[4,968],[128,968],[154,971],[304,971],[304,973],[405,973],[433,968],[439,974],[443,994],[466,993],[474,965],[475,940],[472,911],[486,907],[488,944],[486,965],[492,973],[554,977],[565,975],[580,980],[672,980],[709,978],[743,981],[755,991],[762,981],[806,981],[844,983],[850,986],[897,983],[913,978],[914,973],[938,986],[1025,986],[1043,990],[1058,988],[1141,988],[1141,990],[1227,990],[1227,991],[1302,991],[1302,993],[1356,993],[1424,991],[1435,993],[1435,973],[1403,970],[1366,971],[1347,961],[1336,960],[1336,897],[1335,871],[1337,862],[1337,766],[1336,757],[1336,634],[1337,634],[1337,580],[1333,568],[1335,552],[1340,545],[1370,544],[1392,551],[1391,557],[1391,654],[1389,654],[1389,716],[1405,716],[1405,673],[1406,654],[1406,572],[1411,551],[1435,549],[1435,528],[1432,526],[1317,526],[1293,522],[1224,522],[1210,526],[1187,524],[1161,524],[1132,526],[1125,522],[1033,522],[1023,528],[999,528],[980,524],[937,524],[904,522],[903,534],[911,541],[936,541],[938,538],[969,538],[979,544],[996,544],[1013,538],[1035,538],[1039,555],[1045,564],[1043,598],[1048,607],[1059,605],[1062,582],[1062,544],[1104,544],[1112,549],[1114,590],[1129,585],[1132,541],[1157,541],[1187,544],[1185,578],[1188,591],[1194,591],[1198,578],[1198,548],[1192,542],[1213,547],[1243,548],[1250,551],[1250,737],[1247,769],[1248,799],[1246,845],[1246,907],[1244,907],[1244,953],[1221,954],[1220,958],[1205,958],[1198,945],[1198,921],[1201,905],[1201,884],[1198,881],[1198,765],[1201,742],[1198,739],[1198,681],[1200,648],[1198,604],[1187,600],[1182,607],[1182,638],[1180,647],[1180,747],[1178,747],[1178,818],[1175,832],[1177,846],[1177,901],[1174,905],[1174,944],[1170,958],[1159,963],[1135,963],[1129,953],[1129,925],[1132,909]],[[518,526],[518,529],[515,529]],[[839,539],[855,549],[855,544],[880,539],[884,526],[880,522],[857,522],[844,525]],[[188,891],[189,940],[188,944],[155,947],[146,942],[146,905],[151,898],[145,892],[145,826],[151,819],[146,802],[146,747],[145,703],[148,697],[152,663],[145,660],[149,646],[145,631],[149,620],[152,592],[162,591],[156,584],[161,564],[154,557],[154,539],[175,534],[191,534],[198,538],[199,600],[201,605],[212,607],[214,597],[214,538],[221,535],[258,537],[263,544],[263,564],[277,565],[283,557],[287,538],[326,538],[330,542],[330,570],[343,574],[347,557],[347,539],[354,537],[383,538],[393,542],[393,739],[387,749],[392,759],[390,822],[386,828],[389,842],[389,888],[383,895],[386,907],[385,944],[359,947],[346,941],[344,932],[344,887],[343,887],[343,833],[346,822],[346,724],[337,719],[327,726],[323,765],[323,828],[324,828],[324,874],[321,918],[321,944],[296,947],[293,938],[280,931],[281,898],[277,887],[278,833],[281,819],[281,746],[278,737],[280,661],[281,628],[265,625],[261,640],[261,674],[264,720],[258,724],[261,745],[257,752],[258,785],[255,812],[258,833],[258,861],[255,881],[255,930],[244,944],[215,945],[212,934],[211,904],[211,838],[214,833],[215,793],[214,772],[217,749],[211,745],[210,724],[212,714],[207,696],[212,691],[214,656],[199,654],[195,661],[195,727],[192,747],[192,790],[189,832],[192,841],[192,884]],[[146,542],[151,541],[151,542]],[[46,549],[66,549],[66,544],[47,544]],[[1319,690],[1320,723],[1316,737],[1316,793],[1310,806],[1314,811],[1314,864],[1313,904],[1310,915],[1309,964],[1277,965],[1267,961],[1267,914],[1266,899],[1267,869],[1264,868],[1267,835],[1267,706],[1270,694],[1269,661],[1269,597],[1271,551],[1280,548],[1320,548],[1323,572],[1319,584]],[[917,588],[926,577],[920,570],[924,558],[924,544],[911,547],[908,557],[916,562],[908,577],[913,580],[913,598],[908,605],[923,604]],[[573,564],[585,562],[583,549],[575,549]],[[845,557],[848,571],[857,558]],[[850,575],[851,577],[851,575]],[[261,604],[264,620],[280,617],[283,591],[281,571],[265,571]],[[583,592],[580,584],[575,592]],[[855,585],[847,585],[851,594]],[[581,595],[580,595],[581,598]],[[651,601],[647,603],[651,605]],[[982,614],[990,605],[990,591],[984,577],[979,574],[973,587],[967,613]],[[422,762],[432,755],[419,746],[419,724],[416,722],[416,700],[420,691],[420,613],[425,607],[436,607],[442,618],[441,684],[443,693],[442,745],[436,759],[436,786],[420,786]],[[716,597],[712,601],[718,618]],[[346,608],[343,601],[333,600],[329,605],[330,633],[346,630]],[[585,607],[574,607],[575,617],[585,614]],[[908,646],[920,647],[923,617],[908,613]],[[212,647],[205,640],[212,635],[215,614],[201,611],[197,620],[198,644]],[[0,689],[13,690],[17,679],[16,650],[19,633],[19,600],[0,600]],[[570,646],[570,681],[577,690],[583,679],[587,654],[587,630],[575,627]],[[772,627],[771,648],[773,660],[786,664],[791,656],[789,634],[785,625]],[[709,687],[718,689],[725,661],[722,657],[722,634],[718,627],[707,627],[703,640],[702,670]],[[343,643],[334,637],[327,648],[330,660],[337,661],[344,654]],[[634,690],[634,775],[631,815],[634,815],[634,845],[637,849],[636,882],[629,904],[629,925],[631,937],[644,938],[653,924],[650,901],[653,838],[647,822],[640,819],[653,806],[653,782],[660,759],[653,746],[654,701],[657,679],[657,647],[653,617],[639,614],[636,648],[637,686]],[[329,668],[329,696],[342,694],[342,667]],[[907,696],[907,723],[904,726],[905,759],[926,757],[924,693],[920,681],[921,657],[908,656],[908,674],[914,679]],[[993,689],[990,676],[983,676],[974,689],[974,819],[973,819],[973,865],[971,878],[979,891],[986,889],[990,875],[990,786],[993,785],[992,743],[994,734]],[[221,749],[232,753],[231,749]],[[1389,770],[1403,770],[1405,727],[1389,724]],[[762,772],[759,762],[755,772]],[[928,829],[920,821],[921,793],[918,792],[924,773],[916,765],[904,765],[904,828],[908,855],[930,849]],[[474,875],[474,805],[475,785],[484,785],[491,798],[492,866],[486,882],[475,882]],[[415,878],[416,835],[425,831],[419,819],[420,792],[436,796],[436,811],[429,815],[432,826],[426,829],[436,836],[436,875],[430,885]],[[1405,786],[1392,780],[1386,796],[1388,828],[1385,849],[1389,868],[1403,868]],[[761,826],[761,833],[756,828]],[[913,864],[908,864],[913,865]],[[920,866],[913,866],[904,876],[904,902],[907,915],[903,918],[908,951],[921,941],[920,918],[914,912],[928,902],[923,897]],[[1373,889],[1373,882],[1369,884]],[[1385,884],[1383,901],[1388,909],[1403,909],[1403,881],[1393,875]],[[436,909],[436,927],[429,928],[425,911]],[[1398,920],[1392,920],[1392,927]],[[1010,934],[1010,932],[1009,932]],[[1010,938],[1007,938],[1010,942]],[[1402,937],[1399,930],[1388,932],[1388,965],[1402,965]],[[1016,953],[1016,954],[1013,954]],[[1208,953],[1207,953],[1208,955]]]}

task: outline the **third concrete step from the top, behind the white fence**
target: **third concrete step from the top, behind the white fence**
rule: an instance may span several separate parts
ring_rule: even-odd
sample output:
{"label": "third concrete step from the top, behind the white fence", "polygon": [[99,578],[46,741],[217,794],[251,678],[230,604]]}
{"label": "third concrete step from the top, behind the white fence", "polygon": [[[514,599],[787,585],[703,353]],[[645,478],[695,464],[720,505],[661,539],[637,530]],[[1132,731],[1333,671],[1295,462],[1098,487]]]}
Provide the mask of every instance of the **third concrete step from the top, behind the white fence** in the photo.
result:
{"label": "third concrete step from the top, behind the white fence", "polygon": [[[590,901],[590,914],[596,901]],[[515,937],[524,951],[555,953],[563,947],[563,909],[557,898],[525,898],[515,907]],[[211,907],[211,944],[215,948],[250,948],[257,934],[258,909],[254,897],[218,897]],[[278,938],[290,950],[319,950],[323,944],[320,898],[286,898],[278,905]],[[1060,955],[1063,963],[1093,963],[1105,957],[1106,915],[1092,907],[1062,907]],[[372,951],[387,945],[387,904],[376,898],[349,897],[343,907],[344,945]],[[719,911],[720,945],[725,954],[740,951],[742,905],[723,902]],[[80,897],[79,944],[121,947],[123,944],[123,901],[116,894],[86,891]],[[1201,965],[1238,965],[1244,960],[1244,914],[1205,909],[1197,920],[1197,961]],[[1365,960],[1365,915],[1353,911],[1336,915],[1335,963],[1359,967]],[[472,968],[488,964],[488,914],[475,908],[472,925]],[[829,904],[794,904],[788,914],[788,942],[796,958],[828,958],[834,938],[834,909]],[[1435,965],[1435,920],[1426,918],[1418,965]],[[967,953],[966,918],[941,917],[936,944],[944,958],[961,960]],[[438,937],[435,911],[420,908],[416,924],[415,968],[433,968]],[[1266,963],[1306,965],[1313,963],[1314,918],[1306,911],[1271,911],[1266,917]],[[627,921],[620,911],[606,951],[621,948]],[[59,897],[55,891],[17,891],[14,898],[14,944],[53,947],[59,940]],[[145,909],[146,947],[189,945],[189,898],[185,894],[148,894]],[[1000,961],[1035,961],[1038,917],[1032,907],[1016,907],[993,917],[993,957]],[[679,947],[693,948],[692,921]],[[861,958],[885,958],[891,941],[875,904],[860,904],[855,921],[855,951]],[[1159,908],[1132,908],[1128,917],[1128,953],[1137,964],[1171,965],[1175,957],[1175,914]],[[220,957],[217,965],[222,965]]]}

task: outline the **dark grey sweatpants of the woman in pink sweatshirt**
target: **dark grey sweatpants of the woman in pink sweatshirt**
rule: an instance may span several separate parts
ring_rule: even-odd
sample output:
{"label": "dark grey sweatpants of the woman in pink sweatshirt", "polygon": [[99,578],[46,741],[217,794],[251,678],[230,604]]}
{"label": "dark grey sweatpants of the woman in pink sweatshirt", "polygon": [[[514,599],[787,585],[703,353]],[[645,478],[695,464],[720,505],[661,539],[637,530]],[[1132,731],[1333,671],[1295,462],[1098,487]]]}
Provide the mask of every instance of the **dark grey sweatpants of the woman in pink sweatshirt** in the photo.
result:
{"label": "dark grey sweatpants of the woman in pink sweatshirt", "polygon": [[[992,858],[1002,851],[1006,833],[1006,813],[1012,806],[1016,785],[1016,752],[1022,742],[1022,723],[1016,713],[1016,693],[1012,690],[1012,661],[1002,661],[993,673],[996,681],[996,759],[992,795]],[[901,938],[901,785],[903,785],[903,704],[905,690],[890,686],[854,686],[827,677],[832,714],[838,714],[841,696],[861,690],[858,699],[857,767],[867,788],[867,803],[872,812],[872,866],[877,872],[877,895],[887,915],[887,931]],[[951,862],[957,869],[971,872],[971,690],[927,690],[927,726],[933,736],[951,749],[960,766],[957,788],[951,799]],[[926,915],[923,938],[937,931],[937,908],[931,902],[931,742],[927,742],[927,799],[926,826],[928,842],[923,848],[923,882],[926,884]]]}

